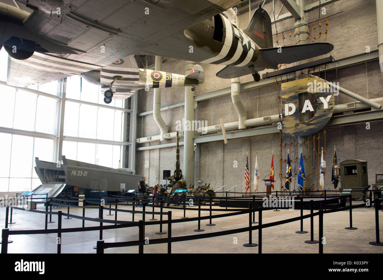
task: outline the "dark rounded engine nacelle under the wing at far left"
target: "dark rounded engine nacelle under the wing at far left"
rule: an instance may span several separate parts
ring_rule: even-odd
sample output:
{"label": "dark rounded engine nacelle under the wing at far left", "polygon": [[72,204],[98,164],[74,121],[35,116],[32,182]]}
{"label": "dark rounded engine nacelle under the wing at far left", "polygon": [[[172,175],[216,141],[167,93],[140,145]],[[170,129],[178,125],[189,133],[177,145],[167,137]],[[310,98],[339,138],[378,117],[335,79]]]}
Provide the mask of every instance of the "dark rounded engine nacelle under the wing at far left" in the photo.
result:
{"label": "dark rounded engine nacelle under the wing at far left", "polygon": [[35,42],[12,36],[5,41],[4,49],[8,52],[9,56],[14,59],[28,59],[34,53]]}

